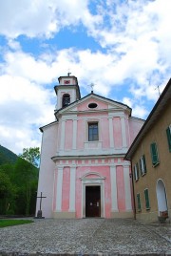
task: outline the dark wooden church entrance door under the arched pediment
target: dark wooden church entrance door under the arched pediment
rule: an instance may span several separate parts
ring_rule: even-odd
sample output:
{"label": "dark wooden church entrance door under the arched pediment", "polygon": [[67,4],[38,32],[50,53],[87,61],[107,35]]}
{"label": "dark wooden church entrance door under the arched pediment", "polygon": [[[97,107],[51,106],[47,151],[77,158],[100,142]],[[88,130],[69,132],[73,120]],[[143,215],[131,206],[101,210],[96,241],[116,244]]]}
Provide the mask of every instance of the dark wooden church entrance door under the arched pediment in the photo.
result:
{"label": "dark wooden church entrance door under the arched pediment", "polygon": [[85,186],[85,217],[101,217],[101,187]]}

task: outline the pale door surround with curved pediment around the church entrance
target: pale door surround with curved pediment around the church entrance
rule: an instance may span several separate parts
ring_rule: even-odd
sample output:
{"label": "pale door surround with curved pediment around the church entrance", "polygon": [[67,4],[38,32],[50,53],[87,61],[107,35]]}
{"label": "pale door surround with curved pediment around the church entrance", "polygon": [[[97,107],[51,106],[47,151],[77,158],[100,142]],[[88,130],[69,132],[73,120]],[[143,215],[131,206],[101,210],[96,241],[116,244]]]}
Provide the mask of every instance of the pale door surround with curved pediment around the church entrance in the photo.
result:
{"label": "pale door surround with curved pediment around the church entrance", "polygon": [[[93,176],[93,178],[88,176]],[[88,172],[81,179],[82,181],[82,218],[85,218],[85,187],[86,186],[100,186],[101,190],[101,216],[104,218],[104,180],[105,177],[96,172]]]}

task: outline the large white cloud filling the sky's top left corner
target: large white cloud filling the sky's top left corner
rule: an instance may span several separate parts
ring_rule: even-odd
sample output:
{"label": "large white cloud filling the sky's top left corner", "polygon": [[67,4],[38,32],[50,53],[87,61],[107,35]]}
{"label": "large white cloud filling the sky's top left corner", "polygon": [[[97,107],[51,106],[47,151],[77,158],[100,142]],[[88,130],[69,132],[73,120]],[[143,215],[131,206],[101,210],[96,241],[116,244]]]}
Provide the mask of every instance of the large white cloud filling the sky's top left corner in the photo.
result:
{"label": "large white cloud filling the sky's top left corner", "polygon": [[75,26],[83,21],[85,26],[97,22],[87,9],[88,1],[79,0],[6,0],[0,3],[0,34],[16,38],[52,37],[65,26]]}

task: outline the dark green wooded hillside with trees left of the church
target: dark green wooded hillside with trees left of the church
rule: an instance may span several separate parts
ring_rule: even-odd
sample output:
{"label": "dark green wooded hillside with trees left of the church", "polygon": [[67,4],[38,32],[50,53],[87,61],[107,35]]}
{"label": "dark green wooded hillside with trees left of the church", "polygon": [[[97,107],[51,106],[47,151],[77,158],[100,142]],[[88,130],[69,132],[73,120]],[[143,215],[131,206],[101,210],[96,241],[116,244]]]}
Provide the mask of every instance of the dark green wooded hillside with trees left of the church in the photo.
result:
{"label": "dark green wooded hillside with trees left of the church", "polygon": [[0,146],[0,215],[34,215],[39,169],[39,148],[19,157]]}

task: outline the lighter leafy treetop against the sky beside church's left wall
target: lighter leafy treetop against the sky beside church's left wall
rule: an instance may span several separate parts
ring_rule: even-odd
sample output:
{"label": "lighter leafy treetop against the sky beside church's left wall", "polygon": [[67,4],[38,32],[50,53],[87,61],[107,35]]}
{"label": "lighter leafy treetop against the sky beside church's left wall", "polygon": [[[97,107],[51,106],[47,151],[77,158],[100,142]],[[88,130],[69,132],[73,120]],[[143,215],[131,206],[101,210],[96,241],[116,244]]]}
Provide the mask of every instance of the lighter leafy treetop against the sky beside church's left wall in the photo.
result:
{"label": "lighter leafy treetop against the sky beside church's left wall", "polygon": [[19,157],[24,160],[28,160],[34,166],[38,167],[40,160],[40,149],[39,147],[24,148],[23,154],[20,154]]}

